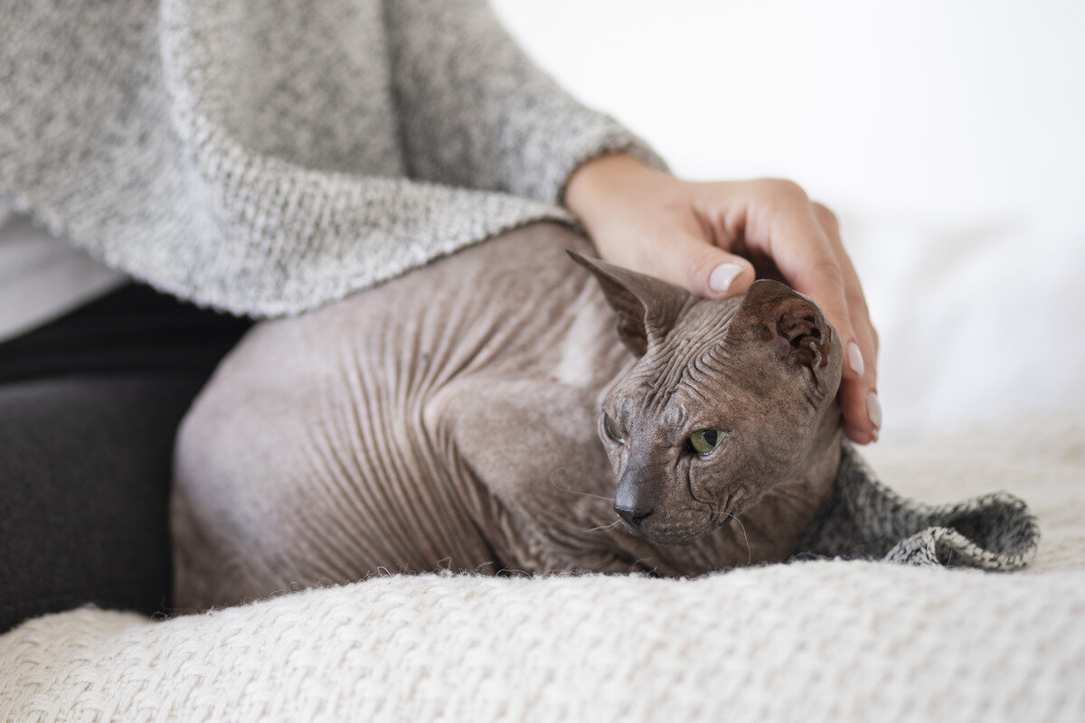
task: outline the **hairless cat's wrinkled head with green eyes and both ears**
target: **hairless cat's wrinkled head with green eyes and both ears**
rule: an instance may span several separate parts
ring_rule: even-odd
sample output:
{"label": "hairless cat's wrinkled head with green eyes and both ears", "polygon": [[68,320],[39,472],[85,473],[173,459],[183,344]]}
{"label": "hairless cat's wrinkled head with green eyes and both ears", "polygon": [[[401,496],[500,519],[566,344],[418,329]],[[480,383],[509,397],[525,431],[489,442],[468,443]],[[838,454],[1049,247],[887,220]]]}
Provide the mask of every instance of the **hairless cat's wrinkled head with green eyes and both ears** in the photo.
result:
{"label": "hairless cat's wrinkled head with green eyes and both ears", "polygon": [[688,544],[839,444],[842,348],[818,306],[775,281],[702,299],[570,253],[639,359],[602,400],[614,511],[660,544]]}

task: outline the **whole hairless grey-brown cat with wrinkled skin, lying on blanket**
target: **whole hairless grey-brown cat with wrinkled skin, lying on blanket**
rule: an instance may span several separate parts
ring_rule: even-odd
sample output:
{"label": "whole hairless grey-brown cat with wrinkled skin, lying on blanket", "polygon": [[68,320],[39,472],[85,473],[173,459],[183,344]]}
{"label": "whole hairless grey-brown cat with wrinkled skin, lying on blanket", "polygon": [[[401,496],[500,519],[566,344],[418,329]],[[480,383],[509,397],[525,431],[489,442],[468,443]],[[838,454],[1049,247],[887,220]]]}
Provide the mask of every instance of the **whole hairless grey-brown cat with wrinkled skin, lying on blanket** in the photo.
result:
{"label": "whole hairless grey-brown cat with wrinkled skin, lying on blanket", "polygon": [[254,327],[179,432],[178,608],[784,559],[839,463],[831,326],[775,282],[704,300],[565,249],[590,244],[535,224]]}

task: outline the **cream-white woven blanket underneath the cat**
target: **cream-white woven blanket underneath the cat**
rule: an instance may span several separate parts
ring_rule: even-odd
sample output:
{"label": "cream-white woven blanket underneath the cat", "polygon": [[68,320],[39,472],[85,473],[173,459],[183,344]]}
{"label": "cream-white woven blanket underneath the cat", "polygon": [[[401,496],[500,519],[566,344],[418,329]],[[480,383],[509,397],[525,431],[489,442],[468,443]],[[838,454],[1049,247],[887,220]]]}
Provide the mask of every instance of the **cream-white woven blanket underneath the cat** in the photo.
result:
{"label": "cream-white woven blanket underneath the cat", "polygon": [[1023,572],[813,561],[698,580],[388,577],[0,636],[2,721],[1082,721],[1085,416],[873,450],[935,502],[998,488]]}

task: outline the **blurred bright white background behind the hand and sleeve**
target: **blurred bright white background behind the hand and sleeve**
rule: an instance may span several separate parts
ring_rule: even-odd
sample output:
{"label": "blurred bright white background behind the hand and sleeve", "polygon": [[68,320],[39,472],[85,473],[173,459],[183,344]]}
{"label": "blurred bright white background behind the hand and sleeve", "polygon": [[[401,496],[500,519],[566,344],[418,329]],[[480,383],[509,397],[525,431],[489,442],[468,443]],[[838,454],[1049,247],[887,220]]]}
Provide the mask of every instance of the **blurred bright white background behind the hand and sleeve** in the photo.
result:
{"label": "blurred bright white background behind the hand and sleeve", "polygon": [[677,175],[791,178],[838,211],[883,439],[1085,409],[1085,2],[493,4]]}

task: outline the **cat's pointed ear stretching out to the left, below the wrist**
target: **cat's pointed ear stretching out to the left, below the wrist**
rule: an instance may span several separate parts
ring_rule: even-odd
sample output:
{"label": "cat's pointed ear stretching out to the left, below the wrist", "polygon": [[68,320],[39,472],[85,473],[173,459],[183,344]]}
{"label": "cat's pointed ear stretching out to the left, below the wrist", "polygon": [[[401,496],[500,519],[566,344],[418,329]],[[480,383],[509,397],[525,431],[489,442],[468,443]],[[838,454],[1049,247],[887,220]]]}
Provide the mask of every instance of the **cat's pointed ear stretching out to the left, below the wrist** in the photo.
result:
{"label": "cat's pointed ear stretching out to the left, below the wrist", "polygon": [[628,269],[566,249],[590,271],[617,312],[617,335],[629,351],[643,357],[650,344],[662,339],[678,321],[689,292]]}

